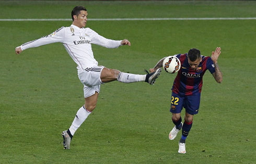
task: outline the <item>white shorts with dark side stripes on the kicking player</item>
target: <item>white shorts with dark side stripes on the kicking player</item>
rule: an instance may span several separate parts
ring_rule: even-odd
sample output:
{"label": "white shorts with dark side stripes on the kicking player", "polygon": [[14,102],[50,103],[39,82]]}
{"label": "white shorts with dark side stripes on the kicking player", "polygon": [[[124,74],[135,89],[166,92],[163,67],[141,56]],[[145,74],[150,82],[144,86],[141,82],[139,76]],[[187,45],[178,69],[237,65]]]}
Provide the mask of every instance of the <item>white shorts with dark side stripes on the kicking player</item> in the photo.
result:
{"label": "white shorts with dark side stripes on the kicking player", "polygon": [[103,66],[87,67],[84,71],[78,73],[79,80],[84,84],[84,97],[90,97],[95,92],[100,93],[100,74]]}

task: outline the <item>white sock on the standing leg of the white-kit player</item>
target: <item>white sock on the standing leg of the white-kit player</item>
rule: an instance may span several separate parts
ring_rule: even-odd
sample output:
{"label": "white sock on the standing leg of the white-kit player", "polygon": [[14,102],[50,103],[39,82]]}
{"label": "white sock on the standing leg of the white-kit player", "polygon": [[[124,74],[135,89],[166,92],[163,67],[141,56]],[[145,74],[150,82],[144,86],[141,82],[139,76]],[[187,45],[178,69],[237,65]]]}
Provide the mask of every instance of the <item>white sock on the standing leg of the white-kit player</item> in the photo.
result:
{"label": "white sock on the standing leg of the white-kit player", "polygon": [[82,106],[76,113],[76,117],[74,121],[72,122],[71,127],[69,128],[69,131],[72,135],[75,134],[76,130],[82,125],[82,123],[86,120],[86,118],[90,115],[91,111],[88,111],[85,109],[84,106]]}

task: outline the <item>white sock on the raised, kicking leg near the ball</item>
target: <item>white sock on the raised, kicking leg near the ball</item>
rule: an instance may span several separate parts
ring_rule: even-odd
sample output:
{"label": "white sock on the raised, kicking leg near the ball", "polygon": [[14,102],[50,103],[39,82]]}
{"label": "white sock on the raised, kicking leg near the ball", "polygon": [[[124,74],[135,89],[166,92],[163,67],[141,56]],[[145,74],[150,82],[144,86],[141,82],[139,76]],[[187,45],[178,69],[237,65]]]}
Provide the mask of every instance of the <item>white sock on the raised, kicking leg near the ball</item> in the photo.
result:
{"label": "white sock on the raised, kicking leg near the ball", "polygon": [[140,82],[140,81],[145,81],[145,79],[146,79],[146,74],[141,75],[141,74],[131,74],[131,73],[124,73],[124,72],[120,72],[118,74],[118,81],[122,83]]}

